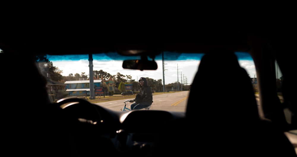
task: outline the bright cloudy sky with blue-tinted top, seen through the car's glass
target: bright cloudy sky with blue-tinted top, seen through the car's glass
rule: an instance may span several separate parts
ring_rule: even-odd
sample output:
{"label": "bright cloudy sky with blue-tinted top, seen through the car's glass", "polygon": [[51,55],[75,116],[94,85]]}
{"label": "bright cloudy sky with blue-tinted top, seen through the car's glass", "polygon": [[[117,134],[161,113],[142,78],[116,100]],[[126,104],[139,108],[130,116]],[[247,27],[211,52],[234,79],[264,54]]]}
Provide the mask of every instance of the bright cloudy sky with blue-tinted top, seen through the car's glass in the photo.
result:
{"label": "bright cloudy sky with blue-tinted top, seen through the car's glass", "polygon": [[[197,54],[196,54],[197,55]],[[47,56],[50,62],[53,62],[53,66],[58,67],[59,70],[63,70],[62,76],[68,76],[70,73],[73,75],[82,72],[85,75],[89,76],[89,60],[88,55],[86,55],[85,59],[77,59],[75,62],[67,61],[69,58],[63,56]],[[70,56],[71,59],[74,59],[77,55]],[[81,56],[80,56],[81,57]],[[170,84],[174,82],[182,82],[183,84],[192,84],[194,76],[198,70],[198,66],[200,63],[201,56],[192,56],[185,57],[182,54],[180,56],[174,56],[173,58],[177,60],[169,60],[167,58],[171,58],[171,56],[166,56],[164,54],[164,80],[165,84]],[[190,59],[189,59],[190,58]],[[108,61],[108,59],[113,59]],[[98,56],[93,56],[93,70],[103,70],[111,75],[116,75],[117,73],[121,73],[122,75],[130,75],[132,79],[138,81],[140,77],[149,77],[154,80],[162,79],[163,82],[163,68],[162,68],[162,55],[161,58],[156,57],[156,62],[158,65],[157,70],[131,70],[124,69],[122,67],[122,62],[126,58],[121,56],[120,60],[115,60],[115,58],[111,56],[102,56],[101,54]],[[255,65],[250,56],[242,57],[241,60],[238,61],[241,67],[247,70],[247,73],[250,77],[257,77]],[[224,65],[222,65],[224,68]],[[226,77],[228,77],[228,69],[225,69]]]}

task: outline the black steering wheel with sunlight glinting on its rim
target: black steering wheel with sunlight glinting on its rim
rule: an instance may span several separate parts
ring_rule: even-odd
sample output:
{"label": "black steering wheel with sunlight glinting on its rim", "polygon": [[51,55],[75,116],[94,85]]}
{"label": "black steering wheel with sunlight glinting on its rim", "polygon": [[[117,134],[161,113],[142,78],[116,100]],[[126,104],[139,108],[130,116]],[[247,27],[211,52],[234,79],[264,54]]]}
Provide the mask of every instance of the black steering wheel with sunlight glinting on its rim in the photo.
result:
{"label": "black steering wheel with sunlight glinting on its rim", "polygon": [[56,105],[61,107],[63,112],[66,112],[70,117],[77,119],[81,123],[96,125],[102,122],[98,106],[89,101],[80,98],[63,98],[58,100]]}

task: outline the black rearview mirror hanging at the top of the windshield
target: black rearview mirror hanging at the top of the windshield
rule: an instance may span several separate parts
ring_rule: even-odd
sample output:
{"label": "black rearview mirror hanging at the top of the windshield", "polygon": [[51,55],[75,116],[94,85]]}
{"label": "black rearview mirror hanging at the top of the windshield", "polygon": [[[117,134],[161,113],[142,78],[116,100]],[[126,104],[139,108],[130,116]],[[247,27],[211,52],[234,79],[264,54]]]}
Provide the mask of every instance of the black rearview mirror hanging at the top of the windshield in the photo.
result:
{"label": "black rearview mirror hanging at the top of the windshield", "polygon": [[146,59],[124,60],[124,69],[138,69],[138,70],[156,70],[158,65],[155,61]]}

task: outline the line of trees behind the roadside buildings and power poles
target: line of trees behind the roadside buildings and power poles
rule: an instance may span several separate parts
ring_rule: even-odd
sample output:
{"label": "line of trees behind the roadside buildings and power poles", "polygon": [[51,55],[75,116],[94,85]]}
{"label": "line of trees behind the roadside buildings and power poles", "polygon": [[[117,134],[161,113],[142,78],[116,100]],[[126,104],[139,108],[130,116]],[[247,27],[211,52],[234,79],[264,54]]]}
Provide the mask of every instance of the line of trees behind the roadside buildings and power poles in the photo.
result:
{"label": "line of trees behind the roadside buildings and power poles", "polygon": [[[68,76],[62,76],[61,73],[63,70],[60,70],[58,67],[53,66],[53,62],[50,62],[46,56],[36,56],[37,66],[40,69],[42,75],[44,75],[47,79],[51,79],[53,81],[58,81],[64,83],[65,81],[76,81],[76,80],[87,80],[89,77],[85,73],[70,73]],[[119,89],[119,91],[125,91],[125,84],[132,84],[133,91],[140,90],[140,86],[138,80],[132,79],[130,75],[123,75],[121,73],[117,73],[116,75],[111,75],[103,70],[93,70],[93,75],[95,78],[101,77],[104,80],[108,80],[110,77],[114,79],[115,86]],[[148,85],[151,87],[151,90],[155,92],[164,92],[162,79],[154,80],[151,78],[146,78],[148,81]],[[179,84],[179,90],[181,90],[181,84]],[[171,83],[165,85],[165,92],[168,91],[177,91],[177,83]],[[189,87],[183,86],[183,90],[189,90]]]}

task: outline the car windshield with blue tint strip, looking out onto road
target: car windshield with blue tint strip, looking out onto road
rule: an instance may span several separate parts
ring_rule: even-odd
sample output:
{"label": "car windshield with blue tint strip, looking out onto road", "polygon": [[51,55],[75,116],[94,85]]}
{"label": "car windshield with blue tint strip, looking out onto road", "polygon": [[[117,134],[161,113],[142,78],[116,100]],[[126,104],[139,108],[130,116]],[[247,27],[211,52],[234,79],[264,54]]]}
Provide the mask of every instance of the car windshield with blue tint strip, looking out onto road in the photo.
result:
{"label": "car windshield with blue tint strip, looking out onto road", "polygon": [[[256,91],[257,75],[252,57],[247,52],[235,54],[241,67],[247,70]],[[145,77],[153,94],[154,103],[151,110],[185,112],[189,91],[203,55],[162,52],[154,58],[157,70],[124,69],[124,60],[140,57],[121,56],[116,52],[91,56],[47,54],[39,56],[37,64],[41,73],[48,79],[48,92],[53,102],[65,97],[85,98],[108,109],[120,111],[123,100],[133,100],[140,92],[138,80]],[[221,78],[222,83],[228,87],[228,84],[232,83],[231,78],[228,68],[223,70],[225,76]],[[94,81],[93,85],[90,84],[90,80]],[[92,90],[94,94],[90,92]],[[179,92],[183,93],[182,97],[175,95]],[[116,103],[110,105],[107,101]],[[170,107],[163,107],[162,104]]]}

